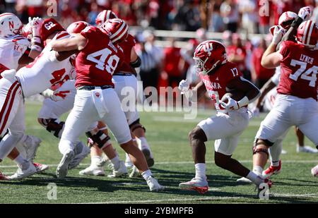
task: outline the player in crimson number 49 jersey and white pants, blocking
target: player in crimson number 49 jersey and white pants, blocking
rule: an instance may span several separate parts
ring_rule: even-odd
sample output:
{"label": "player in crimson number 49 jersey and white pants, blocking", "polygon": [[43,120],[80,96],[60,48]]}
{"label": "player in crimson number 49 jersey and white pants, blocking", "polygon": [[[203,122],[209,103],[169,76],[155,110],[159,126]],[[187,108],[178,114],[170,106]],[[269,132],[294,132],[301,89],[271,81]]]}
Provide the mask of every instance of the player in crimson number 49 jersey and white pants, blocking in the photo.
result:
{"label": "player in crimson number 49 jersey and white pants, blocking", "polygon": [[[76,97],[74,107],[66,119],[59,150],[63,155],[57,167],[57,177],[67,175],[69,163],[74,157],[73,143],[93,121],[104,121],[110,127],[119,145],[129,153],[151,191],[163,190],[148,169],[143,153],[134,146],[129,126],[114,92],[112,73],[122,64],[124,54],[116,44],[126,39],[128,25],[124,20],[114,19],[117,31],[106,32],[102,28],[88,27],[80,35],[53,44],[57,52],[78,52],[76,56]],[[105,43],[95,43],[105,42]],[[113,42],[115,44],[113,44]]]}

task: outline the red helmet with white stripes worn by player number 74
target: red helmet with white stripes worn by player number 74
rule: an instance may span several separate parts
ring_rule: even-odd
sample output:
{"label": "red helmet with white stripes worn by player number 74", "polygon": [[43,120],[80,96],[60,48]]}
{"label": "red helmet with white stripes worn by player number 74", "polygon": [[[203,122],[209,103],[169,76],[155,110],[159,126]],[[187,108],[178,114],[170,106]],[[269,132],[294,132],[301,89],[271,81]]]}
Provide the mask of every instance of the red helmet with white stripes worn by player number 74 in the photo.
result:
{"label": "red helmet with white stripes worn by player number 74", "polygon": [[312,20],[302,22],[297,29],[296,40],[307,47],[315,47],[318,40],[318,27]]}

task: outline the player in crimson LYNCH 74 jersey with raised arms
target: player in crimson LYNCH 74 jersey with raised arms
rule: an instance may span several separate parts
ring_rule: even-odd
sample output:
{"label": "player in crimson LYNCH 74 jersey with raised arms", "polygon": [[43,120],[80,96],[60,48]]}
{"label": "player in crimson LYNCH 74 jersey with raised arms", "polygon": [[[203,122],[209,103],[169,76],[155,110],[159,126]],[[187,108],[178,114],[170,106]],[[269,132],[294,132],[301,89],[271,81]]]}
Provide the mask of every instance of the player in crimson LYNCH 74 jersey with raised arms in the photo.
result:
{"label": "player in crimson LYNCH 74 jersey with raised arms", "polygon": [[[279,149],[277,140],[282,140],[290,126],[298,126],[313,143],[318,146],[317,138],[317,70],[318,40],[317,24],[310,17],[310,10],[300,9],[298,18],[293,21],[290,30],[296,25],[296,42],[283,41],[278,52],[276,47],[283,31],[278,30],[273,41],[266,49],[261,64],[267,68],[281,66],[281,79],[278,84],[277,100],[273,109],[261,123],[253,148],[253,170],[261,174],[268,158],[268,149]],[[288,37],[287,37],[288,38]],[[283,135],[283,137],[282,137]],[[278,152],[279,158],[280,152]],[[280,170],[276,167],[277,171]]]}

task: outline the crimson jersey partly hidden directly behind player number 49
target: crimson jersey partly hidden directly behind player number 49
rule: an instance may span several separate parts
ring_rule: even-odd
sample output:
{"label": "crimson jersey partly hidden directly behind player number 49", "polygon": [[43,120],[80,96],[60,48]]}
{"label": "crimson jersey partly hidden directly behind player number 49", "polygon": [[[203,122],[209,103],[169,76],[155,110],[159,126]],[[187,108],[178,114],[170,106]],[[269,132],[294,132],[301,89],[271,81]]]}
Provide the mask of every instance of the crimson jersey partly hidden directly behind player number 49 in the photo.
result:
{"label": "crimson jersey partly hidden directly behind player number 49", "polygon": [[117,67],[115,73],[134,73],[134,68],[130,66],[131,49],[135,46],[136,40],[132,35],[128,35],[126,40],[119,43],[119,46],[124,50],[124,63]]}

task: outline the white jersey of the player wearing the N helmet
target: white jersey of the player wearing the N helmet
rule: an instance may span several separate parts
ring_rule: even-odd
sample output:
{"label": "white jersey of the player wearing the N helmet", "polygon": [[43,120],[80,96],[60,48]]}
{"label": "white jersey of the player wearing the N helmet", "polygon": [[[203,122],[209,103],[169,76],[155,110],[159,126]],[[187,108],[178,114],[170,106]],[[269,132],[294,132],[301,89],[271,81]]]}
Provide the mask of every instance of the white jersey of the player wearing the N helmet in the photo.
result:
{"label": "white jersey of the player wearing the N helmet", "polygon": [[20,35],[0,37],[0,63],[8,69],[16,70],[20,57],[29,45],[28,39]]}

